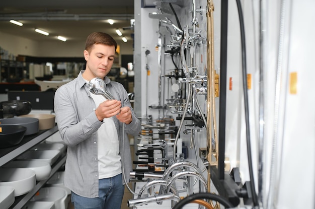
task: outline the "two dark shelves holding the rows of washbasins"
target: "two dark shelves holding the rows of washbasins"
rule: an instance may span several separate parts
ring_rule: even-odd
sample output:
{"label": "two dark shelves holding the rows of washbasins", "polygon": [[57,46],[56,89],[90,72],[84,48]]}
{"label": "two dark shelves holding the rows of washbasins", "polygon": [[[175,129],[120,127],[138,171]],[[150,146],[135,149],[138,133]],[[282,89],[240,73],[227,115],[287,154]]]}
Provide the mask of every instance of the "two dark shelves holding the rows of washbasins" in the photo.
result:
{"label": "two dark shelves holding the rows of washbasins", "polygon": [[[11,160],[14,160],[20,154],[29,150],[36,144],[42,142],[57,131],[58,127],[54,126],[53,128],[48,130],[39,131],[35,135],[24,137],[22,142],[17,146],[0,149],[0,167],[10,162]],[[53,176],[53,174],[58,171],[58,169],[65,163],[65,159],[65,154],[61,155],[57,159],[57,162],[51,166],[52,169],[50,176],[45,180],[37,181],[35,187],[28,193],[21,196],[16,196],[15,202],[13,203],[13,205],[11,205],[11,207],[9,207],[9,209],[22,208],[36,194],[36,192],[46,184],[46,182]]]}

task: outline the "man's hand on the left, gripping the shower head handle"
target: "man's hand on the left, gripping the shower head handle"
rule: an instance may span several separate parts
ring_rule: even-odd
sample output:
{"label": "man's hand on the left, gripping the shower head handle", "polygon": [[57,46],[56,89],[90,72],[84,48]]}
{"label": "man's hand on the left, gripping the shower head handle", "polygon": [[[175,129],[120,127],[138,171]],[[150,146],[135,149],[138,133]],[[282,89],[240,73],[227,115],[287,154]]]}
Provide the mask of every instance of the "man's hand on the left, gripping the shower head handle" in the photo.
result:
{"label": "man's hand on the left, gripping the shower head handle", "polygon": [[104,118],[110,118],[120,112],[121,102],[118,100],[106,100],[102,102],[95,110],[95,114],[100,121]]}

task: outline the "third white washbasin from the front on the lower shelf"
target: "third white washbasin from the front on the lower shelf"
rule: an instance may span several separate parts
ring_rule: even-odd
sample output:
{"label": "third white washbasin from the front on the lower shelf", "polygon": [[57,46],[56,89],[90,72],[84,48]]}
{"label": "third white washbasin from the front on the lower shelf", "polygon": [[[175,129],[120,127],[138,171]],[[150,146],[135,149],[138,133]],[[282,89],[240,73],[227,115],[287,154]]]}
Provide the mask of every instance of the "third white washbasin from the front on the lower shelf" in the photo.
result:
{"label": "third white washbasin from the front on the lower shelf", "polygon": [[47,179],[51,173],[51,166],[48,162],[38,160],[15,160],[5,164],[5,168],[30,168],[36,173],[36,180]]}

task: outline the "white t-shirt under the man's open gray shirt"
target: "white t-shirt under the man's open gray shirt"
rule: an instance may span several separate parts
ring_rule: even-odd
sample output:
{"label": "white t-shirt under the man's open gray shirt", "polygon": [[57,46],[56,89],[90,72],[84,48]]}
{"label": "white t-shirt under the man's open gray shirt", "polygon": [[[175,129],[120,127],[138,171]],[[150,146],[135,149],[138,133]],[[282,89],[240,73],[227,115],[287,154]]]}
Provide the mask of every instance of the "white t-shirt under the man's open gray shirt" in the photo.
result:
{"label": "white t-shirt under the man's open gray shirt", "polygon": [[[96,107],[106,99],[103,95],[90,93]],[[109,178],[121,173],[119,141],[113,118],[104,118],[97,131],[99,179]]]}

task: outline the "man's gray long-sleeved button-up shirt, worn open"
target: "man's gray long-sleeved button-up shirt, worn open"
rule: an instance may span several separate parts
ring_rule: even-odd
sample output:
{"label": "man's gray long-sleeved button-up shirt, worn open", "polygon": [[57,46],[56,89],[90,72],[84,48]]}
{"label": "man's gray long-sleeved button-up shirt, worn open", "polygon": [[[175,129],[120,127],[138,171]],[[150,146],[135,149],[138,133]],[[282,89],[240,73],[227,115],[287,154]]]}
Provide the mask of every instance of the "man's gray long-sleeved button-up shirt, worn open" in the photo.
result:
{"label": "man's gray long-sleeved button-up shirt, worn open", "polygon": [[[97,130],[102,122],[96,117],[96,106],[82,77],[83,72],[56,90],[54,111],[61,138],[67,145],[64,185],[78,195],[93,198],[99,194]],[[132,112],[132,122],[124,124],[124,150],[122,123],[113,117],[116,126],[113,131],[118,134],[120,153],[124,152],[124,169],[126,179],[129,180],[132,163],[127,133],[134,136],[139,134],[141,123],[123,85],[105,77],[105,87],[123,106],[129,106]]]}

